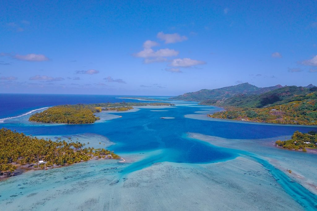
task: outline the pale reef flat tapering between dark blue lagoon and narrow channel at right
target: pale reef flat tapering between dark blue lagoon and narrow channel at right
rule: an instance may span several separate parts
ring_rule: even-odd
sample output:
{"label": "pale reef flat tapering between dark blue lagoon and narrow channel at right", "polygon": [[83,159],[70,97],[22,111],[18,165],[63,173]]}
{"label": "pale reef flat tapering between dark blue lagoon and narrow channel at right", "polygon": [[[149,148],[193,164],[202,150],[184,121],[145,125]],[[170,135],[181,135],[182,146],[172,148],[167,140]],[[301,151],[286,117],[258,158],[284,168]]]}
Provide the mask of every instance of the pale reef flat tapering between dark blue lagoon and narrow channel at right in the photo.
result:
{"label": "pale reef flat tapering between dark blue lagoon and narrow channel at right", "polygon": [[[288,177],[317,195],[316,154],[283,149],[274,144],[276,140],[289,139],[289,136],[253,140],[225,139],[199,133],[187,133],[187,136],[209,142],[212,145],[239,150],[238,153],[242,155],[252,155],[265,159]],[[291,173],[288,170],[291,170]]]}

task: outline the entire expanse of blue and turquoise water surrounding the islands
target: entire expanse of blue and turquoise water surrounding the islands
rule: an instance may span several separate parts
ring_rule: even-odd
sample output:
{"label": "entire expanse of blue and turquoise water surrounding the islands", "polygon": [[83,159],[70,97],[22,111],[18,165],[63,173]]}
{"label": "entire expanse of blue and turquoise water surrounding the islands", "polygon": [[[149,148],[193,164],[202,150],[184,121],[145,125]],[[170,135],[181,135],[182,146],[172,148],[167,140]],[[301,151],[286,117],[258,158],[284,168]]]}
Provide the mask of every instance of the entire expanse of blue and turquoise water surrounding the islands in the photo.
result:
{"label": "entire expanse of blue and turquoise water surrounding the islands", "polygon": [[[116,97],[31,95],[23,103],[21,96],[0,95],[7,99],[0,107],[5,110],[1,127],[37,137],[71,137],[125,159],[28,171],[3,180],[1,210],[316,209],[317,154],[273,145],[296,130],[316,127],[218,121],[206,113],[220,108],[181,101],[173,101],[173,107],[102,112],[100,121],[88,125],[31,123],[31,114],[21,116],[56,104],[139,102]],[[10,116],[20,117],[6,119]]]}

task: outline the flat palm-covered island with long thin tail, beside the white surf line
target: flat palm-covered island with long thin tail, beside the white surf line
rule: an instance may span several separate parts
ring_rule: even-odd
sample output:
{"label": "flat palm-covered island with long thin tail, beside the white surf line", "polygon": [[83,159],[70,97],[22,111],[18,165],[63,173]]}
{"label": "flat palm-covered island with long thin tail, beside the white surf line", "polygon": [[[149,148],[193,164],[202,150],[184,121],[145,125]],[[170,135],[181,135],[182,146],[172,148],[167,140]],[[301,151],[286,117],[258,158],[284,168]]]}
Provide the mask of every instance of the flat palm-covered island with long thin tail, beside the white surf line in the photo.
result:
{"label": "flat palm-covered island with long thin tail, beside the white surf line", "polygon": [[43,123],[91,124],[100,118],[94,113],[101,111],[127,111],[133,106],[173,106],[171,103],[117,102],[76,105],[58,105],[29,117],[29,121]]}

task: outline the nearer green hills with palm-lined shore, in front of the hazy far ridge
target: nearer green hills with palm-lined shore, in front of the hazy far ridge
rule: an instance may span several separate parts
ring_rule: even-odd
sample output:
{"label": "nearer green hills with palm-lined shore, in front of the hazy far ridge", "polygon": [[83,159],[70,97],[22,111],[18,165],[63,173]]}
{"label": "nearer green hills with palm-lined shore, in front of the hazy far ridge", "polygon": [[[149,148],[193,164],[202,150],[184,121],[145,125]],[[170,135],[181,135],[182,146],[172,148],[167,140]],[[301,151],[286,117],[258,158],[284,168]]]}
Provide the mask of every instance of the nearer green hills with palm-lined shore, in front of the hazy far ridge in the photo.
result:
{"label": "nearer green hills with palm-lined shore, in front of the hazy far ridge", "polygon": [[226,110],[208,115],[213,118],[317,125],[317,87],[287,86],[260,95],[236,95],[215,104]]}

